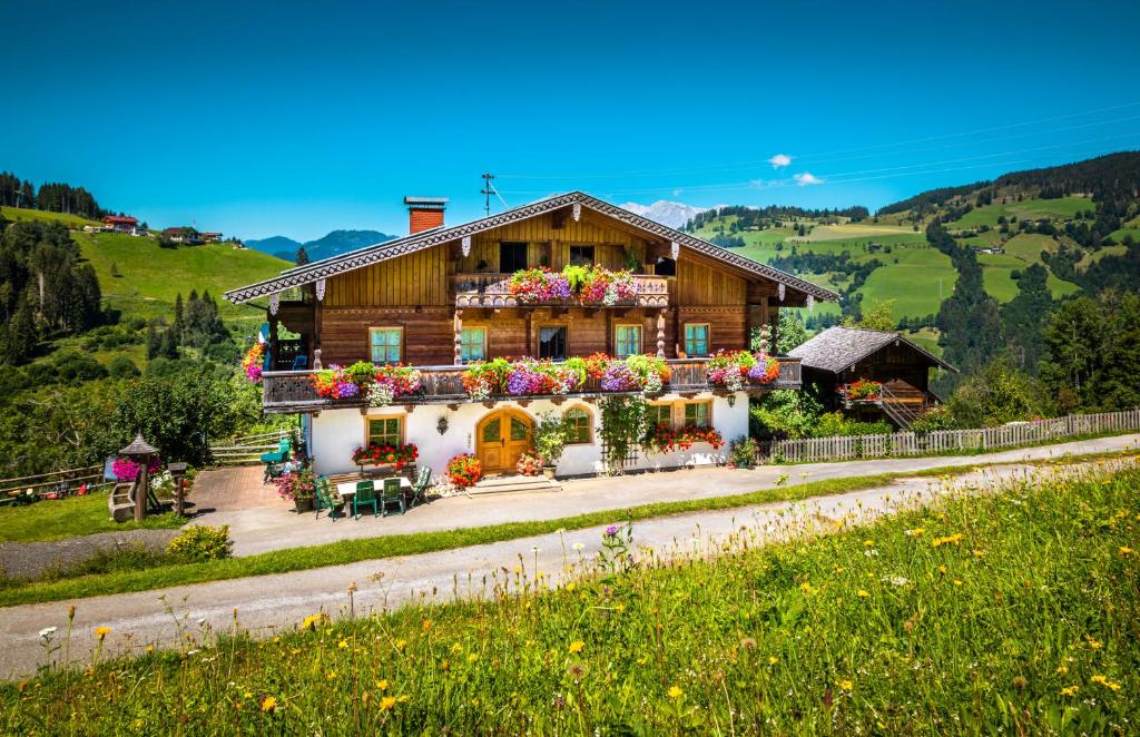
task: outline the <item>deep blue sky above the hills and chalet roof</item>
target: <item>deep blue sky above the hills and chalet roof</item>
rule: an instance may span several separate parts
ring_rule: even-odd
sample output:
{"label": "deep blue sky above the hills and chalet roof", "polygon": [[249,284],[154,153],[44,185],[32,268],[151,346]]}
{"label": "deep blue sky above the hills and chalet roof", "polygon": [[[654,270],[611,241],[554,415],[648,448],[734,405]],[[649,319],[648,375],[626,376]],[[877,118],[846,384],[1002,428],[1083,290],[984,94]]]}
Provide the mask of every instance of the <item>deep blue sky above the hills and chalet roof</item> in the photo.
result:
{"label": "deep blue sky above the hills and chalet roof", "polygon": [[0,0],[0,170],[307,240],[402,234],[406,194],[478,217],[483,171],[511,205],[873,209],[1140,148],[1137,3],[928,5]]}

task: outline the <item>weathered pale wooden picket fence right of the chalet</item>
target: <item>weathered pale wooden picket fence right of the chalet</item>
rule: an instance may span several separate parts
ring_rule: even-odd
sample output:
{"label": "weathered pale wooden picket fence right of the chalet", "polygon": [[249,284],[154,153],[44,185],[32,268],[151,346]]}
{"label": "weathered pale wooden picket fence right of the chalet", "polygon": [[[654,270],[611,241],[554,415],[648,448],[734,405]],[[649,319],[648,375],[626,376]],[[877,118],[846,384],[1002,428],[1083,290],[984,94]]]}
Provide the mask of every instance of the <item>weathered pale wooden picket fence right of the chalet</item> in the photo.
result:
{"label": "weathered pale wooden picket fence right of the chalet", "polygon": [[769,457],[790,463],[847,461],[852,459],[977,452],[1049,443],[1059,438],[1099,432],[1140,430],[1140,410],[1070,414],[1064,418],[1017,422],[978,430],[895,432],[803,440],[773,440]]}

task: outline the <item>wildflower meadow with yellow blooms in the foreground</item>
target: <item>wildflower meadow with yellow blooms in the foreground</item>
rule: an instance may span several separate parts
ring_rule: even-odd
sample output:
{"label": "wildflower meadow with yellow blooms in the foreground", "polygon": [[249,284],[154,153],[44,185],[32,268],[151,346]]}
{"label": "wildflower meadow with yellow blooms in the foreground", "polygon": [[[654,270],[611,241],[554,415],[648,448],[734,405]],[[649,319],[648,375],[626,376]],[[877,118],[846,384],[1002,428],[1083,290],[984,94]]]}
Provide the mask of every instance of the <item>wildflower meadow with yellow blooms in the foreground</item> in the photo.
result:
{"label": "wildflower meadow with yellow blooms in the foreground", "polygon": [[486,600],[272,640],[188,627],[180,651],[41,672],[0,687],[0,729],[1126,734],[1138,510],[1133,468],[817,520],[833,534],[788,544],[742,532],[695,561],[570,553],[573,585],[553,590],[520,561]]}

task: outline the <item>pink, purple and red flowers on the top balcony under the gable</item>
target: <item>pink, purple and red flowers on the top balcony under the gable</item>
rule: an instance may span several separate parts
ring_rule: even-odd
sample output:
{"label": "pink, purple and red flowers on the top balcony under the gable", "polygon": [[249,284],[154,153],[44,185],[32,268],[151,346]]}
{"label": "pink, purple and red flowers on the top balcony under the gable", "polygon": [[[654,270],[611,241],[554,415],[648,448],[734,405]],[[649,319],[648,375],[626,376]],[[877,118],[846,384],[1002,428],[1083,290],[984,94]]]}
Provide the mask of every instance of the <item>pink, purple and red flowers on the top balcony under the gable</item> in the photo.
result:
{"label": "pink, purple and red flowers on the top balcony under the gable", "polygon": [[523,269],[511,276],[508,290],[520,302],[565,302],[617,305],[637,297],[637,280],[626,270],[611,272],[601,266],[567,266],[561,272],[544,267]]}

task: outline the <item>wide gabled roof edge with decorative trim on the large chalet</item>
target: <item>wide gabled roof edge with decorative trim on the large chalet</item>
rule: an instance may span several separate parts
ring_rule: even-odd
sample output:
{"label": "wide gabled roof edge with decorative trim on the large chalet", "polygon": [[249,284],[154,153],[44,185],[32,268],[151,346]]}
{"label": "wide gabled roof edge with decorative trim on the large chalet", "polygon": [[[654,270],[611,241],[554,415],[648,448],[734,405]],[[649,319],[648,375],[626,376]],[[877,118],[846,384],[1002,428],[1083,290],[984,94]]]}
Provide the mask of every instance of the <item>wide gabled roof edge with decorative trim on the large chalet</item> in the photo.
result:
{"label": "wide gabled roof edge with decorative trim on the large chalet", "polygon": [[312,284],[314,282],[335,276],[336,274],[343,274],[344,272],[364,268],[373,264],[378,264],[400,256],[430,249],[442,243],[477,235],[484,230],[491,230],[494,228],[499,228],[505,225],[511,225],[520,220],[554,212],[555,210],[572,205],[578,205],[612,217],[635,228],[651,233],[668,241],[674,241],[683,248],[692,249],[698,253],[712,257],[744,272],[785,284],[793,290],[809,294],[816,299],[832,302],[839,299],[839,295],[831,290],[806,282],[799,277],[792,276],[791,274],[767,266],[766,264],[760,264],[742,256],[738,256],[736,253],[718,245],[714,245],[708,241],[702,241],[701,238],[698,238],[689,233],[674,230],[673,228],[661,225],[660,222],[643,218],[640,214],[635,214],[617,205],[603,202],[583,192],[570,192],[568,194],[554,195],[520,208],[506,210],[498,214],[480,218],[479,220],[471,220],[470,222],[465,222],[463,225],[453,227],[440,226],[438,228],[421,230],[420,233],[396,238],[394,241],[385,241],[383,243],[377,243],[376,245],[368,245],[363,249],[357,249],[356,251],[350,251],[349,253],[342,253],[320,261],[312,261],[303,266],[296,266],[282,272],[280,276],[277,276],[276,278],[230,290],[225,293],[225,298],[235,303],[247,302],[258,297],[266,297],[294,286]]}

